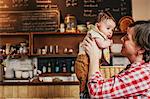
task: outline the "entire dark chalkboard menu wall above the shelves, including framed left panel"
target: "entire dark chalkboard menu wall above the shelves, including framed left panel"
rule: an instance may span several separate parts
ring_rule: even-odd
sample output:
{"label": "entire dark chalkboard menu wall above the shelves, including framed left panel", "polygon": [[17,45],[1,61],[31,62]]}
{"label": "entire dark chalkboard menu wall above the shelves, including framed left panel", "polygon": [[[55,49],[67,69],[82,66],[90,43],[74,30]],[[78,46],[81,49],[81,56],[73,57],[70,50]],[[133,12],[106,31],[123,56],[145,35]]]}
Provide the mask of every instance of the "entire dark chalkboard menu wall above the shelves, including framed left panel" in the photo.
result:
{"label": "entire dark chalkboard menu wall above the shelves, including framed left panel", "polygon": [[57,31],[67,14],[94,23],[100,11],[132,16],[131,0],[0,0],[0,32]]}

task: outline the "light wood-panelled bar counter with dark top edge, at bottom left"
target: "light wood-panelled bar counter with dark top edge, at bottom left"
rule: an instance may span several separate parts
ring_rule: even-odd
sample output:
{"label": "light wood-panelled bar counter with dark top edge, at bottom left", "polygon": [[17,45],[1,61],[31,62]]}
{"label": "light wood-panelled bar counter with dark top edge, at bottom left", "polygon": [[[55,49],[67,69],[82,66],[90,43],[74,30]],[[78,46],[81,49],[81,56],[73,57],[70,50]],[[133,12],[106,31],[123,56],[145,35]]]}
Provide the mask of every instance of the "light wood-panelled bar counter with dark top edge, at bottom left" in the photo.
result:
{"label": "light wood-panelled bar counter with dark top edge, at bottom left", "polygon": [[75,83],[1,83],[1,98],[52,99],[79,98],[79,84]]}

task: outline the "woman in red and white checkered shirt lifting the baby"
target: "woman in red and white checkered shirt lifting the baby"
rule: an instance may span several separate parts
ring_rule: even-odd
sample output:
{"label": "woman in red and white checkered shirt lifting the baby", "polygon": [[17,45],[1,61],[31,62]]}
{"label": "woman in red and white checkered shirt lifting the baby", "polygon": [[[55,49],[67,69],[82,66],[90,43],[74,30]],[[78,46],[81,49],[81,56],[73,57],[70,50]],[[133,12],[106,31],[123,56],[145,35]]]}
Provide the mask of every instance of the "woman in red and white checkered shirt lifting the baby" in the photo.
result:
{"label": "woman in red and white checkered shirt lifting the baby", "polygon": [[150,22],[133,23],[121,41],[121,52],[131,64],[122,73],[105,80],[99,71],[100,53],[95,41],[84,40],[90,58],[88,90],[91,98],[150,98]]}

